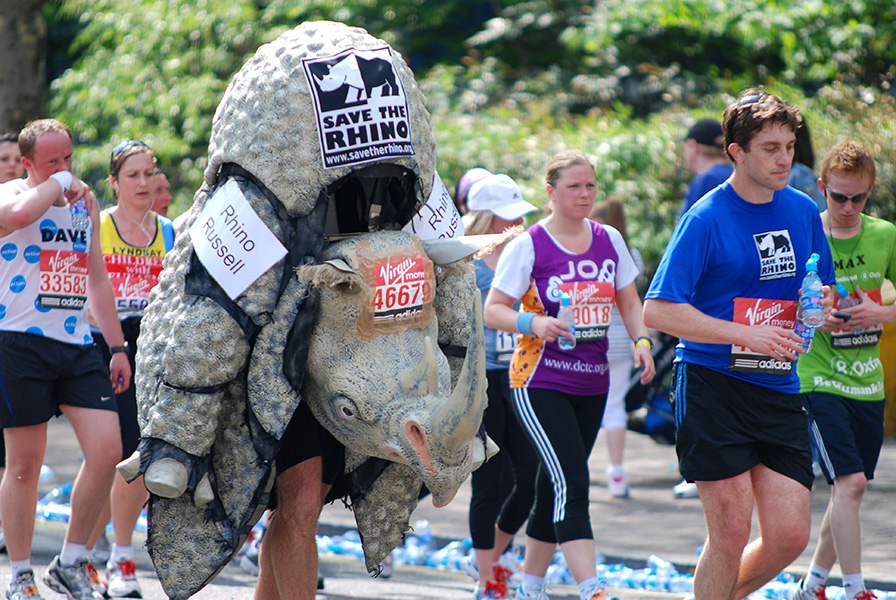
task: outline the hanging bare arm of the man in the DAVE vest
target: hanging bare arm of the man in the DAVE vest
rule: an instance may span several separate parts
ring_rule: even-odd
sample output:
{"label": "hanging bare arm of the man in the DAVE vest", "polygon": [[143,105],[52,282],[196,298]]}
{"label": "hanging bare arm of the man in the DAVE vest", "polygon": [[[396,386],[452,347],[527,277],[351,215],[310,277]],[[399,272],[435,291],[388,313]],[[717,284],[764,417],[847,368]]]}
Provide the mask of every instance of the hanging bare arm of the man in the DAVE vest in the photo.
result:
{"label": "hanging bare arm of the man in the DAVE vest", "polygon": [[[103,262],[103,250],[100,247],[99,205],[93,193],[85,198],[90,220],[93,223],[93,235],[90,237],[90,271],[87,275],[87,297],[90,301],[90,314],[96,320],[103,337],[109,347],[124,345],[124,334],[121,332],[121,321],[115,307],[115,292]],[[112,355],[109,361],[110,380],[116,394],[128,389],[131,384],[131,364],[127,354],[119,352]]]}

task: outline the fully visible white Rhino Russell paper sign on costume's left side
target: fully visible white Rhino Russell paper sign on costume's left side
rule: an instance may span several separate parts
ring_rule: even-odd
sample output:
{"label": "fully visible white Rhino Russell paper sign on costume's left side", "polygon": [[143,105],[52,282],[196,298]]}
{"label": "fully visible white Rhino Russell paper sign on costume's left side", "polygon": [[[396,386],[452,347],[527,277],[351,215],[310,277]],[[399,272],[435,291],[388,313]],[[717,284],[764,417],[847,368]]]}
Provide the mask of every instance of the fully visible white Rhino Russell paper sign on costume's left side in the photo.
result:
{"label": "fully visible white Rhino Russell paper sign on costume's left side", "polygon": [[286,256],[233,180],[209,198],[190,237],[199,261],[232,300]]}

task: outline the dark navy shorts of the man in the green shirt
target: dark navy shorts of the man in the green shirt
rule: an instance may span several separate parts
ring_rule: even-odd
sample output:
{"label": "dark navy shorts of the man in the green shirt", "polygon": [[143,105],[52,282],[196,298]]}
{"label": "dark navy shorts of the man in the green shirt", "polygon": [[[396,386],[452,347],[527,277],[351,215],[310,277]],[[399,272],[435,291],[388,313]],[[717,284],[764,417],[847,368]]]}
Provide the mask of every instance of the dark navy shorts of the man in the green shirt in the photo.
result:
{"label": "dark navy shorts of the man in the green shirt", "polygon": [[828,483],[853,473],[874,479],[884,443],[886,400],[853,400],[825,392],[811,392],[805,400],[809,435]]}

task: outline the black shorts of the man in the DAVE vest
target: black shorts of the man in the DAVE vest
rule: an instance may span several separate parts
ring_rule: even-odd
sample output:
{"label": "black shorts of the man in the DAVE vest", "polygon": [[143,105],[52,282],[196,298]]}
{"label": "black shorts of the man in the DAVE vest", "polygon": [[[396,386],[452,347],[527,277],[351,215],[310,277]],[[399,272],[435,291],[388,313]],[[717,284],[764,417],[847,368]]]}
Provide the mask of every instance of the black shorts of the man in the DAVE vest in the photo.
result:
{"label": "black shorts of the man in the DAVE vest", "polygon": [[59,407],[116,410],[109,368],[96,345],[66,344],[0,331],[0,425],[27,427],[62,414]]}

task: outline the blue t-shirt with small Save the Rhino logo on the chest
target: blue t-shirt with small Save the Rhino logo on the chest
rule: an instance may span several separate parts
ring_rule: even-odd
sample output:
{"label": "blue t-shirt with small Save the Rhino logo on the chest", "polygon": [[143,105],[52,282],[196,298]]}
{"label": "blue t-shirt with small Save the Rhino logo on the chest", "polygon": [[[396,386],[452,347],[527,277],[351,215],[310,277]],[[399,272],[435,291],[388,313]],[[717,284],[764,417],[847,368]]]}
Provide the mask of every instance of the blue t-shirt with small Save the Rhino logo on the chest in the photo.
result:
{"label": "blue t-shirt with small Save the Rhino logo on the chest", "polygon": [[[751,204],[726,182],[679,221],[645,298],[687,303],[732,321],[735,298],[796,302],[813,252],[820,257],[819,277],[832,284],[831,250],[818,208],[808,196],[784,188],[768,204]],[[732,369],[731,345],[682,340],[675,361],[781,392],[799,392],[795,368],[786,374]]]}

